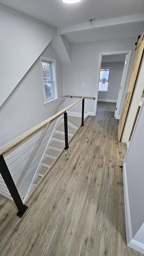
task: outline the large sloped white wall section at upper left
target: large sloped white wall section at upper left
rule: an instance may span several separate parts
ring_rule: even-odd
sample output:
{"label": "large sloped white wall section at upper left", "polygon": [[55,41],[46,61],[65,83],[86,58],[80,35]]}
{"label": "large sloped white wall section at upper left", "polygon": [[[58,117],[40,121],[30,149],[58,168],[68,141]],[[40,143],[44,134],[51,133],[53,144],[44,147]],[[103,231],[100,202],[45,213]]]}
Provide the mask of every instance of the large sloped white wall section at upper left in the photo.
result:
{"label": "large sloped white wall section at upper left", "polygon": [[55,36],[56,28],[4,5],[0,8],[2,105]]}

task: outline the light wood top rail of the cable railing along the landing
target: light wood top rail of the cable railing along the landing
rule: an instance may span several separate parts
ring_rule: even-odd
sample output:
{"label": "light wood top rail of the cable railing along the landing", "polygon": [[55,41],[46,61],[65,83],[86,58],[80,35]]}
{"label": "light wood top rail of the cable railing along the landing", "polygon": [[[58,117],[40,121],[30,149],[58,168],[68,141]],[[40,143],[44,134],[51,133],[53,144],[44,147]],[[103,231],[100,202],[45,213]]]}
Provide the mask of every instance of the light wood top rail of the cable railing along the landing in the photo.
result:
{"label": "light wood top rail of the cable railing along the landing", "polygon": [[22,135],[20,135],[19,137],[17,137],[16,139],[12,140],[11,142],[9,142],[8,144],[6,144],[5,146],[3,146],[2,148],[0,148],[0,155],[3,154],[3,156],[8,155],[10,152],[12,152],[14,149],[18,148],[20,145],[22,145],[24,142],[26,142],[28,139],[30,139],[31,137],[33,137],[35,134],[37,134],[38,132],[40,132],[44,127],[46,127],[47,123],[54,121],[55,119],[57,119],[58,117],[60,117],[66,110],[68,110],[69,108],[73,107],[75,104],[77,104],[79,101],[81,101],[82,99],[84,99],[85,97],[81,97],[80,99],[78,99],[77,101],[73,102],[71,105],[69,105],[68,107],[64,108],[63,110],[59,111],[58,113],[56,113],[55,115],[47,118],[46,120],[44,120],[43,122],[41,122],[40,124],[34,126],[33,128],[31,128],[29,131],[23,133]]}

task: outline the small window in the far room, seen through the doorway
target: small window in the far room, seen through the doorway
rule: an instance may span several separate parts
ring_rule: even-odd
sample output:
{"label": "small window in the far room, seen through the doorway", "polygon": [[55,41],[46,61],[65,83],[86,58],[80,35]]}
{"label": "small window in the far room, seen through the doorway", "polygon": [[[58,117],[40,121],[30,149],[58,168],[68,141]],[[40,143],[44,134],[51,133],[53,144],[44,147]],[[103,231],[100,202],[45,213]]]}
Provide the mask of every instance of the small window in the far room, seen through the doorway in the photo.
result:
{"label": "small window in the far room, seen through the doorway", "polygon": [[103,68],[100,70],[100,79],[99,79],[99,91],[108,92],[109,88],[109,78],[110,78],[110,68]]}

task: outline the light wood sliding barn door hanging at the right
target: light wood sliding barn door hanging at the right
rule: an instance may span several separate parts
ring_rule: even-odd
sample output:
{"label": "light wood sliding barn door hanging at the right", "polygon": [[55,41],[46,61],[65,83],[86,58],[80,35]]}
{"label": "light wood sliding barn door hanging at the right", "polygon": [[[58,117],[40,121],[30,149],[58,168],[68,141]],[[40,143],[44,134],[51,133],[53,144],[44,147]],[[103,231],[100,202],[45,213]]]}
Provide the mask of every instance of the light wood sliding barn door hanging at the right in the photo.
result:
{"label": "light wood sliding barn door hanging at the right", "polygon": [[136,51],[135,51],[135,56],[134,56],[134,60],[133,60],[133,64],[132,64],[128,87],[127,87],[127,91],[125,94],[124,103],[123,103],[123,107],[122,107],[122,111],[121,111],[121,116],[120,116],[120,120],[119,120],[119,124],[118,124],[118,141],[121,140],[121,136],[122,136],[122,132],[124,129],[129,105],[130,105],[131,98],[132,98],[132,93],[134,90],[137,74],[138,74],[140,63],[142,60],[142,55],[143,55],[143,50],[144,50],[143,37],[144,37],[144,33],[139,38],[139,40],[137,42],[137,46],[136,46]]}

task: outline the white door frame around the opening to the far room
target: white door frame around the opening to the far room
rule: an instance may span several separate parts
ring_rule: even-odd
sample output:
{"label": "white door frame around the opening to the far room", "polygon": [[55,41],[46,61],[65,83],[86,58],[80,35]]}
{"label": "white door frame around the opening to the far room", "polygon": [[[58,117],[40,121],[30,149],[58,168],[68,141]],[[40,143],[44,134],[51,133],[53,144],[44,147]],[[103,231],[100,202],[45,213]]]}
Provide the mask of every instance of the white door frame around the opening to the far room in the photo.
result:
{"label": "white door frame around the opening to the far room", "polygon": [[111,52],[100,52],[99,53],[94,115],[96,115],[96,109],[97,109],[99,77],[100,77],[100,69],[101,69],[102,56],[104,56],[104,55],[126,54],[125,65],[124,65],[124,69],[123,69],[123,74],[122,74],[122,79],[121,79],[121,84],[120,84],[120,90],[119,90],[118,99],[117,99],[117,105],[116,105],[117,110],[115,111],[115,115],[114,115],[116,119],[120,118],[119,110],[120,110],[120,105],[121,105],[121,101],[122,101],[123,91],[124,91],[124,87],[125,87],[126,77],[127,77],[127,73],[128,73],[131,52],[132,52],[132,50],[121,50],[121,51],[111,51]]}

